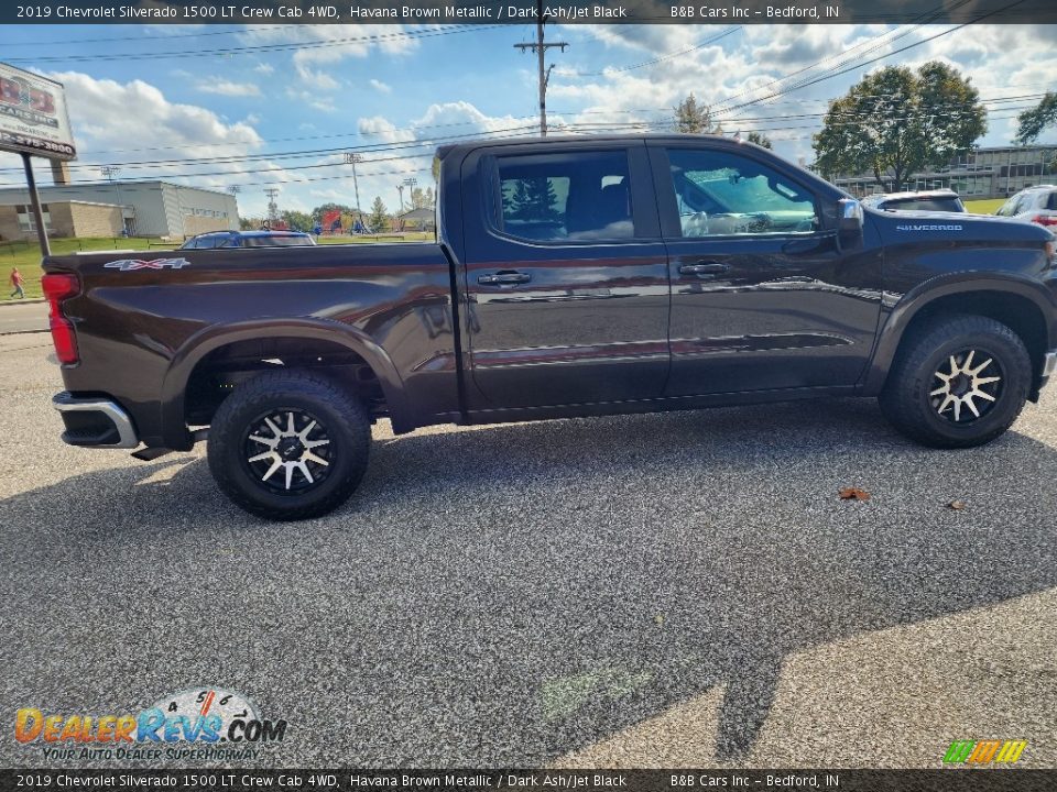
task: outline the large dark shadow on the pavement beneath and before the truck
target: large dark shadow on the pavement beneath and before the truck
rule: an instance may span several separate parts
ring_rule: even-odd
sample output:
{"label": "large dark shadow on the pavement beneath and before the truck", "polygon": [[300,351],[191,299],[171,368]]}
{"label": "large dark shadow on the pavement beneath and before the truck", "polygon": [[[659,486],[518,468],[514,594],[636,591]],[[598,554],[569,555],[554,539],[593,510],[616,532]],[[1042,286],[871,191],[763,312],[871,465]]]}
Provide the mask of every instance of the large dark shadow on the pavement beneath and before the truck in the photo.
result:
{"label": "large dark shadow on the pavement beneath and before the truck", "polygon": [[386,439],[294,525],[198,457],[97,471],[0,502],[8,686],[91,703],[34,661],[76,647],[126,674],[115,705],[229,684],[292,724],[276,765],[360,767],[545,763],[721,690],[699,766],[739,761],[788,654],[1057,585],[1055,481],[1026,435],[930,451],[857,400]]}

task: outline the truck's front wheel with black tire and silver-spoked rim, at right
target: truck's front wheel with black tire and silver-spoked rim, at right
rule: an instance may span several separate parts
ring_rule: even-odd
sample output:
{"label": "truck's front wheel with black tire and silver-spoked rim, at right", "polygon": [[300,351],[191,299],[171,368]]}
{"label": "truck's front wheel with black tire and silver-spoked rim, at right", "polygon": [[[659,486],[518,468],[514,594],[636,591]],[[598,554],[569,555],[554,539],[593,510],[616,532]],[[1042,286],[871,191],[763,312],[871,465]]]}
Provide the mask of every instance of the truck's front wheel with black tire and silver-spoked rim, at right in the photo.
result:
{"label": "truck's front wheel with black tire and silver-spoked rim, at right", "polygon": [[1027,349],[1009,327],[980,316],[937,317],[904,340],[880,403],[911,439],[970,448],[1010,428],[1031,382]]}

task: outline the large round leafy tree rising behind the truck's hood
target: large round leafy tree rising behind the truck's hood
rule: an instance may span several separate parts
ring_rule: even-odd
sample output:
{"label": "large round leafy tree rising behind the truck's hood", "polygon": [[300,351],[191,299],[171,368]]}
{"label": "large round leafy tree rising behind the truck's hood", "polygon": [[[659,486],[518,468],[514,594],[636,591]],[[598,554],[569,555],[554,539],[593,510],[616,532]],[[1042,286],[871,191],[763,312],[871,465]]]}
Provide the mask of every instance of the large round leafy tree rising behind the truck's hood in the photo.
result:
{"label": "large round leafy tree rising behind the truck's hood", "polygon": [[814,138],[824,175],[871,173],[885,189],[941,167],[988,131],[980,94],[958,69],[937,61],[916,73],[889,66],[867,75],[829,103]]}

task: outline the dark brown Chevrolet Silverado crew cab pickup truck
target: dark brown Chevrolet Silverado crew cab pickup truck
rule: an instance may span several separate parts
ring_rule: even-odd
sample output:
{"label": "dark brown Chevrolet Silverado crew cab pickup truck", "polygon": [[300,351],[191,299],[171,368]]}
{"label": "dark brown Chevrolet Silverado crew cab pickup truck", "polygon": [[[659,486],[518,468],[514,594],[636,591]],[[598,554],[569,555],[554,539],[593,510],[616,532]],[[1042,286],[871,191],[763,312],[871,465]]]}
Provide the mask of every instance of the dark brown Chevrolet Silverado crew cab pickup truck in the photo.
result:
{"label": "dark brown Chevrolet Silverado crew cab pickup truck", "polygon": [[437,157],[435,243],[47,258],[64,440],[153,459],[208,431],[228,496],[297,519],[356,488],[379,418],[400,433],[859,395],[963,448],[1055,367],[1044,228],[863,211],[722,138]]}

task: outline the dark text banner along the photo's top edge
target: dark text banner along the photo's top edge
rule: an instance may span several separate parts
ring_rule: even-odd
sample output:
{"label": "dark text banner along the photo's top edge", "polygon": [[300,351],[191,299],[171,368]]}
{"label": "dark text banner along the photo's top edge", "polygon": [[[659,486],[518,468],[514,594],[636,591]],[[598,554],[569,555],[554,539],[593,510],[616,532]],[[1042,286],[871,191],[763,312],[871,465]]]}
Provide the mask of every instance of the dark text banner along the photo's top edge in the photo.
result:
{"label": "dark text banner along the photo's top edge", "polygon": [[2,3],[2,24],[1024,24],[1055,0],[40,0]]}

